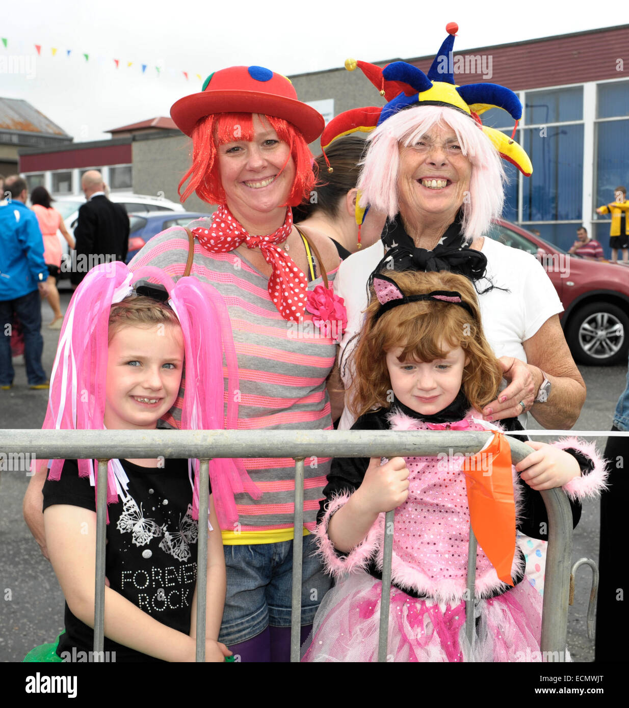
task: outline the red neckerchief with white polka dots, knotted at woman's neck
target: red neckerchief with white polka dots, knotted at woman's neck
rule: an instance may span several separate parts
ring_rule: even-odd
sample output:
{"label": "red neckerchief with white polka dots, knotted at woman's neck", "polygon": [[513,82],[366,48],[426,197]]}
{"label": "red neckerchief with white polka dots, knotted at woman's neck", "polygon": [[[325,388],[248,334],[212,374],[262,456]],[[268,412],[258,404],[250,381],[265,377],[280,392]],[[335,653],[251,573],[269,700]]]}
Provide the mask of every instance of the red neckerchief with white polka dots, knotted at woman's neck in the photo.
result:
{"label": "red neckerchief with white polka dots, knotted at woman's neck", "polygon": [[293,212],[286,210],[285,222],[268,236],[250,236],[235,219],[227,205],[222,204],[212,215],[209,229],[192,229],[204,249],[211,253],[227,253],[246,243],[248,249],[259,248],[273,273],[268,279],[268,295],[286,320],[300,321],[306,309],[308,281],[305,273],[293,262],[288,253],[279,248],[293,229]]}

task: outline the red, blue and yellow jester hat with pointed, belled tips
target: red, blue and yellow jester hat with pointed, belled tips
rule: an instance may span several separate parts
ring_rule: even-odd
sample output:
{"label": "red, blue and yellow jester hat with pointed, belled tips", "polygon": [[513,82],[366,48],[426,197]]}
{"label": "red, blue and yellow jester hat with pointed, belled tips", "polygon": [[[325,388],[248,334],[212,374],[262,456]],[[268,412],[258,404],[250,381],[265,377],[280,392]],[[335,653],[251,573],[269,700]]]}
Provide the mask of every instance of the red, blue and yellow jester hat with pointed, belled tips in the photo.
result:
{"label": "red, blue and yellow jester hat with pointed, belled tips", "polygon": [[[443,41],[438,54],[434,58],[428,74],[408,62],[392,62],[384,69],[368,64],[368,62],[347,59],[345,68],[353,72],[356,67],[384,96],[387,104],[354,108],[339,113],[325,127],[321,136],[321,147],[325,149],[343,135],[353,132],[371,132],[382,122],[395,115],[399,110],[416,105],[443,105],[453,110],[459,110],[475,120],[478,127],[492,141],[500,156],[514,164],[525,176],[530,176],[533,166],[528,155],[514,141],[518,121],[522,117],[522,104],[516,94],[498,84],[467,84],[457,86],[453,76],[452,51],[456,23],[446,25],[448,36]],[[511,138],[499,130],[482,125],[480,115],[489,108],[503,108],[516,121]],[[366,211],[362,207],[356,209],[356,222],[362,223]]]}

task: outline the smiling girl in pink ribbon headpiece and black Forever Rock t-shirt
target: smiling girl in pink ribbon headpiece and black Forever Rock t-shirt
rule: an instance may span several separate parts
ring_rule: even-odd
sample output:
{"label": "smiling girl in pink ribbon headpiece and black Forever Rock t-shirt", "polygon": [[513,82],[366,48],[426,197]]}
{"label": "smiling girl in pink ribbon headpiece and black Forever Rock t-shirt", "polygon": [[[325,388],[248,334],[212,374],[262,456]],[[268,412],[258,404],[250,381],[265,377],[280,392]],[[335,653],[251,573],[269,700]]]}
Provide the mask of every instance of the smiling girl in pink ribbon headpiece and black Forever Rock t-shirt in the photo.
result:
{"label": "smiling girl in pink ribbon headpiece and black Forever Rock t-shirt", "polygon": [[[168,304],[133,295],[141,278],[164,283]],[[148,287],[159,297],[159,286]],[[185,362],[181,427],[223,428],[224,357],[233,425],[238,377],[222,298],[195,278],[175,285],[157,268],[98,266],[69,305],[43,427],[154,430],[179,396]],[[198,460],[163,457],[108,464],[105,650],[116,661],[194,661],[198,469]],[[94,460],[55,459],[43,489],[47,549],[66,598],[57,656],[89,652],[94,641],[94,474]],[[217,641],[225,602],[219,526],[237,520],[234,493],[257,490],[236,460],[212,460],[210,480],[200,525],[203,532],[208,524],[205,656],[224,661],[231,652]]]}

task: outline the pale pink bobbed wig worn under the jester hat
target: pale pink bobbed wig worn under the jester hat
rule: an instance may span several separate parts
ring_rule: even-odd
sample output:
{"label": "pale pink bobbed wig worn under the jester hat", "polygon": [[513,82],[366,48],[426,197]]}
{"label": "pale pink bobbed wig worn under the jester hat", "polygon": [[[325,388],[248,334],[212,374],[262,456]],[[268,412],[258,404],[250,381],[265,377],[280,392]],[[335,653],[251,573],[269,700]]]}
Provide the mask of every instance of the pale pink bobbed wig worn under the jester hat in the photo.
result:
{"label": "pale pink bobbed wig worn under the jester hat", "polygon": [[371,205],[392,219],[399,211],[397,178],[399,146],[409,147],[434,125],[450,126],[462,152],[472,163],[470,198],[463,202],[463,234],[468,241],[487,232],[499,217],[506,181],[502,161],[475,120],[458,110],[440,105],[420,105],[387,118],[370,134],[369,149],[358,179],[361,207]]}

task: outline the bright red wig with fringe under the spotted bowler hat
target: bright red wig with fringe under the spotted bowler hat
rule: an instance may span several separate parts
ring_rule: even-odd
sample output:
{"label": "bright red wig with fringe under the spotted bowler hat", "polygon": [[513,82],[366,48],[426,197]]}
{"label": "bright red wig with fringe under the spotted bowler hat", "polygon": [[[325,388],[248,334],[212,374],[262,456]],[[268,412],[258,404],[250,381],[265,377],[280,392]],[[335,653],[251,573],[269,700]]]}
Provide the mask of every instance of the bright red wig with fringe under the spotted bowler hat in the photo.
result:
{"label": "bright red wig with fringe under the spotted bowler hat", "polygon": [[[285,206],[296,207],[310,197],[314,187],[312,153],[301,133],[292,123],[273,115],[264,119],[273,127],[280,140],[290,147],[290,156],[295,163],[295,181]],[[192,166],[179,183],[181,201],[196,192],[198,198],[208,204],[223,204],[225,190],[222,188],[217,160],[217,147],[234,140],[254,139],[254,119],[251,113],[212,113],[201,118],[192,134]],[[182,188],[190,178],[185,190]],[[284,205],[283,205],[284,206]]]}

